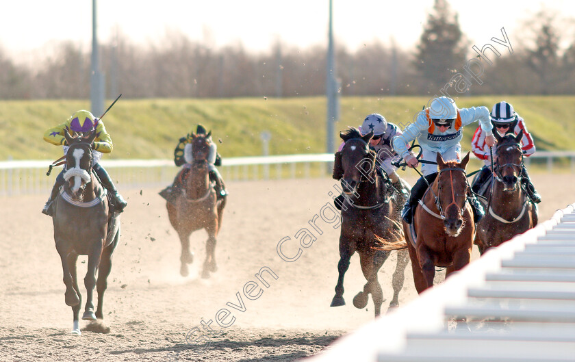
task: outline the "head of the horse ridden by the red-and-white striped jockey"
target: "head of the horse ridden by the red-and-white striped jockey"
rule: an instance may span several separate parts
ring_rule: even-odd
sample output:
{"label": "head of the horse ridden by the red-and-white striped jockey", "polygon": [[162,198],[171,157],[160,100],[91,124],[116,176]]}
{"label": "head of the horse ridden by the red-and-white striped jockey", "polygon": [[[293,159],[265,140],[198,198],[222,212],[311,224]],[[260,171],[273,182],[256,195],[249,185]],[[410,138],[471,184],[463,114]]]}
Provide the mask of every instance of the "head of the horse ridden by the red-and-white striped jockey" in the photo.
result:
{"label": "head of the horse ridden by the red-and-white striped jockey", "polygon": [[497,132],[493,134],[498,142],[495,150],[496,159],[494,160],[496,162],[495,174],[498,181],[503,183],[503,190],[513,192],[517,190],[523,168],[523,151],[521,149],[523,130],[517,135],[509,133],[500,136]]}

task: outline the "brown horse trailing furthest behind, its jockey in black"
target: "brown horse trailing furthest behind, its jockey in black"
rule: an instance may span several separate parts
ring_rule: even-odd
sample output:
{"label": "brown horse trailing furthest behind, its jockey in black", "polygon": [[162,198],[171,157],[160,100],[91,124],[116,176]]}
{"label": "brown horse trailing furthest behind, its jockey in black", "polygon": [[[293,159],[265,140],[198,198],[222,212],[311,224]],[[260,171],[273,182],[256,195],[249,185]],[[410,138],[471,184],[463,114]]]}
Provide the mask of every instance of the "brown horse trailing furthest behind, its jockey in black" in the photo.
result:
{"label": "brown horse trailing furthest behind, its jockey in black", "polygon": [[[222,214],[226,198],[216,200],[216,192],[209,182],[209,165],[207,158],[210,151],[212,132],[207,134],[192,133],[193,161],[190,172],[183,178],[183,192],[174,203],[166,203],[168,217],[172,227],[177,231],[181,243],[180,274],[188,276],[188,264],[194,261],[190,252],[190,235],[192,232],[205,229],[208,238],[202,277],[209,278],[209,272],[216,272],[216,235],[222,227]],[[183,170],[181,171],[183,172]]]}

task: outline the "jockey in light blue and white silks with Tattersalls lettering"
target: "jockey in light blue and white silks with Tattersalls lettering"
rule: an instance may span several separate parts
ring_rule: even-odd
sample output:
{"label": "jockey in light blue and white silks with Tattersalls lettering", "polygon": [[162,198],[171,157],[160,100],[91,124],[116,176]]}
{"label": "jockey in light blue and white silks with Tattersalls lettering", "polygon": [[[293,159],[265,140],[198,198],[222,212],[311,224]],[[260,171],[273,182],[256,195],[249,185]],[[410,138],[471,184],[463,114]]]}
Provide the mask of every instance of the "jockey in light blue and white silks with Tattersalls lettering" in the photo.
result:
{"label": "jockey in light blue and white silks with Tattersalls lettering", "polygon": [[[493,132],[493,125],[489,118],[487,107],[470,107],[458,109],[455,101],[441,96],[433,99],[431,105],[422,110],[416,122],[405,127],[403,135],[394,138],[395,151],[405,159],[407,166],[416,168],[419,165],[418,159],[409,151],[406,144],[417,140],[422,148],[422,159],[435,162],[437,153],[442,155],[445,161],[461,161],[461,138],[463,137],[463,127],[479,120],[481,128],[485,131],[485,142],[493,146],[496,142]],[[437,177],[437,165],[422,164],[422,174],[416,185],[411,188],[411,196],[405,204],[402,216],[404,220],[411,224],[411,211],[427,190],[428,183],[431,184]],[[483,216],[483,209],[474,198],[470,198],[470,204],[474,209],[476,222]]]}

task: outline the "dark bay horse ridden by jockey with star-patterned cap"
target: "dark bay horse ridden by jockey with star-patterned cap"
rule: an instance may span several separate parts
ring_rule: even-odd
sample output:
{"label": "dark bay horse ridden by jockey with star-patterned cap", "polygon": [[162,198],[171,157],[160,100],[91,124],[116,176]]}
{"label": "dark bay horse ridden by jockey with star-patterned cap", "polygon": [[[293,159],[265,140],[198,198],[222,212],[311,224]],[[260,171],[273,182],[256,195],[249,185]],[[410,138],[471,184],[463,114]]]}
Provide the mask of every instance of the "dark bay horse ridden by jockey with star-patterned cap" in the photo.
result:
{"label": "dark bay horse ridden by jockey with star-patterned cap", "polygon": [[[394,198],[398,197],[400,192],[392,189],[385,174],[376,172],[376,153],[369,148],[373,132],[362,136],[358,129],[350,128],[340,133],[340,137],[345,145],[342,151],[335,154],[333,178],[341,179],[347,197],[342,205],[340,261],[337,263],[339,275],[331,307],[345,305],[344,275],[349,268],[351,256],[357,251],[361,271],[367,283],[363,286],[363,291],[353,298],[353,305],[358,309],[366,307],[371,294],[377,316],[381,313],[383,303],[383,292],[377,274],[391,253],[391,249],[384,250],[382,244],[403,240],[398,222],[400,216],[398,212],[394,212]],[[355,195],[353,200],[351,195]],[[407,263],[407,253],[400,250],[393,275],[394,296],[389,307],[398,306],[398,295],[405,280]]]}

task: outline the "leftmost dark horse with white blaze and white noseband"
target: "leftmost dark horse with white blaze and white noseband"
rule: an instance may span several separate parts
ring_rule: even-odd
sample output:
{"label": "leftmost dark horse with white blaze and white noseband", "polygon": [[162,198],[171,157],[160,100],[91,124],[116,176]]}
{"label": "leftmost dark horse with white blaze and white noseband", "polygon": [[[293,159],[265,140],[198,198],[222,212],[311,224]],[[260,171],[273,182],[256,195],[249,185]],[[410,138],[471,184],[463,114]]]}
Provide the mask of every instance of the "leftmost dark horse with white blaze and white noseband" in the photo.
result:
{"label": "leftmost dark horse with white blaze and white noseband", "polygon": [[[68,142],[64,180],[66,182],[55,198],[52,218],[56,250],[62,259],[66,305],[72,307],[72,333],[80,335],[79,311],[81,294],[76,275],[78,255],[88,255],[88,270],[84,277],[86,307],[83,320],[103,319],[103,297],[107,276],[112,269],[112,253],[120,239],[120,216],[109,207],[107,192],[92,172],[92,142],[96,130],[87,137],[71,137],[64,131]],[[98,271],[98,279],[96,272]],[[98,292],[98,308],[94,313],[92,293]]]}

